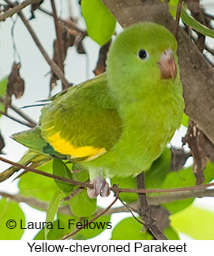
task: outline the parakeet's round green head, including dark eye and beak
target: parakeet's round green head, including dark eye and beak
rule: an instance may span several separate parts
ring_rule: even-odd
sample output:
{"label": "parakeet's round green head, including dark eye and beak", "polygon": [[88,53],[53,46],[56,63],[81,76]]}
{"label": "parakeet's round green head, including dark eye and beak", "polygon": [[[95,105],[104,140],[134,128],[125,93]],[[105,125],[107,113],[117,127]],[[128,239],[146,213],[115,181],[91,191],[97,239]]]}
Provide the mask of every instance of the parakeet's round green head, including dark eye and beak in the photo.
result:
{"label": "parakeet's round green head, including dark eye and beak", "polygon": [[107,55],[108,86],[113,96],[136,101],[176,87],[176,50],[175,36],[161,25],[144,22],[125,29]]}

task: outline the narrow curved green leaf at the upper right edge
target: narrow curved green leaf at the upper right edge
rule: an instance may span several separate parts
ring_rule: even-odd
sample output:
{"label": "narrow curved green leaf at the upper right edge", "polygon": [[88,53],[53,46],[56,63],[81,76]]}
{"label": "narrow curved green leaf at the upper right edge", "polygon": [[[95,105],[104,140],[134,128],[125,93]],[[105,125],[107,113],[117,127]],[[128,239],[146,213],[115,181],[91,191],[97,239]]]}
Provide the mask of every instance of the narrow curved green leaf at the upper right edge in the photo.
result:
{"label": "narrow curved green leaf at the upper right edge", "polygon": [[186,24],[195,29],[197,32],[201,32],[201,34],[205,36],[209,36],[214,38],[214,30],[208,29],[205,25],[202,25],[199,21],[194,19],[190,16],[189,13],[186,12],[184,8],[182,8],[181,13],[182,21]]}

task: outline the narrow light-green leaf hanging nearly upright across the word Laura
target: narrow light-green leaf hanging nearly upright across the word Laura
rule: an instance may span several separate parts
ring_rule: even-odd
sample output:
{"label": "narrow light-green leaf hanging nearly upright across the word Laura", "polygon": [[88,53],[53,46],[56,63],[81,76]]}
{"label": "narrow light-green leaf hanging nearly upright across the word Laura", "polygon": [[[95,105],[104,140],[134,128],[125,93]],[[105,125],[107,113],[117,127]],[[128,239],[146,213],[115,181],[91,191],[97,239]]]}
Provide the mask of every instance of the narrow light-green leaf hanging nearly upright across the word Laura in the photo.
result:
{"label": "narrow light-green leaf hanging nearly upright across the word Laura", "polygon": [[[55,191],[53,197],[51,198],[51,201],[47,208],[47,216],[46,216],[46,224],[54,222],[54,217],[58,211],[58,204],[62,197],[62,192],[58,189]],[[47,227],[47,225],[44,227],[44,237],[47,239],[47,234],[50,231],[50,228]]]}

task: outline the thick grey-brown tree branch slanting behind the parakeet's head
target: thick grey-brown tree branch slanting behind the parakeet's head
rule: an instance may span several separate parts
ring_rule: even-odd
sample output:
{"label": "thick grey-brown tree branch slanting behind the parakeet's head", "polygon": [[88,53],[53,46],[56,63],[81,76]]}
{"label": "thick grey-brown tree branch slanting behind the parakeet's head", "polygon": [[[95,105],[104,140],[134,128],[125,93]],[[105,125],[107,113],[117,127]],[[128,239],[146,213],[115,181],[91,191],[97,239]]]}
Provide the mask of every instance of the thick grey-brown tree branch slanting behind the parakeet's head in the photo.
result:
{"label": "thick grey-brown tree branch slanting behind the parakeet's head", "polygon": [[[160,0],[102,0],[117,21],[126,27],[140,21],[164,25],[171,32],[175,20]],[[183,29],[178,29],[178,61],[181,70],[186,114],[214,143],[214,70]]]}

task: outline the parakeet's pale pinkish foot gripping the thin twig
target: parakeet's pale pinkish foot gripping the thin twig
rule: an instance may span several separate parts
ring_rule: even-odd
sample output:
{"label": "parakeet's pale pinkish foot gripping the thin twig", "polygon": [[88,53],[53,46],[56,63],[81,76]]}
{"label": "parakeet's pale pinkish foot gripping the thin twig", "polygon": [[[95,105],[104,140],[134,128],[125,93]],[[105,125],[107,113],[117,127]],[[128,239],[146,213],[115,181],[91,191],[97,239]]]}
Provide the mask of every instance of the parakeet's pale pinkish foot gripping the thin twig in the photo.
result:
{"label": "parakeet's pale pinkish foot gripping the thin twig", "polygon": [[98,195],[101,197],[108,197],[110,194],[109,184],[103,177],[94,178],[90,184],[94,185],[93,189],[87,188],[88,197],[96,198]]}

